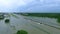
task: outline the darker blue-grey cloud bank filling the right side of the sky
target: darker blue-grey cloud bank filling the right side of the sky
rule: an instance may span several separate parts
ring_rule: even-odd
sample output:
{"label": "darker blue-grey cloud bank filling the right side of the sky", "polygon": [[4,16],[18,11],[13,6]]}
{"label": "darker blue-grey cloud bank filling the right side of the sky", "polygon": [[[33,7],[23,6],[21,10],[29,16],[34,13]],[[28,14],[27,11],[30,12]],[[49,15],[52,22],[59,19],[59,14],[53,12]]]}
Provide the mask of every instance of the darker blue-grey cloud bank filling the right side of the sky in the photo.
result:
{"label": "darker blue-grey cloud bank filling the right side of the sky", "polygon": [[[37,13],[60,13],[60,1],[59,0],[44,0],[39,1],[37,4],[30,5],[25,12],[37,12]],[[24,12],[24,11],[22,11]]]}

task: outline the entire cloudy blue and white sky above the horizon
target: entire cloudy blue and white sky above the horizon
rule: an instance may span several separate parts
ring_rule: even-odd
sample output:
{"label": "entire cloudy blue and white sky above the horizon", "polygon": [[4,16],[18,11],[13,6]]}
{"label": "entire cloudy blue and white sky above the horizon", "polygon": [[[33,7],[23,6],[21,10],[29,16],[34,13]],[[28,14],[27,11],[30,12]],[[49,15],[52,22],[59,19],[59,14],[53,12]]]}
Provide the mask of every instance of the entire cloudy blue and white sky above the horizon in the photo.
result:
{"label": "entire cloudy blue and white sky above the horizon", "polygon": [[0,12],[60,12],[60,0],[0,0]]}

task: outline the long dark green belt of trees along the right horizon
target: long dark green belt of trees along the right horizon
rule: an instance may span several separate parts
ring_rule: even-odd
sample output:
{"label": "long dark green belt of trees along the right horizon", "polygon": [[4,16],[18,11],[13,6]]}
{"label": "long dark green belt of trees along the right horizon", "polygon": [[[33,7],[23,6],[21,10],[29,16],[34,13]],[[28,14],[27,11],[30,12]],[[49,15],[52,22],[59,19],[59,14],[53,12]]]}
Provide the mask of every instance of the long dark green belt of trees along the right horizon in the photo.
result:
{"label": "long dark green belt of trees along the right horizon", "polygon": [[58,23],[60,23],[60,13],[27,13],[28,15],[21,14],[24,16],[35,16],[35,17],[48,17],[48,18],[57,18]]}

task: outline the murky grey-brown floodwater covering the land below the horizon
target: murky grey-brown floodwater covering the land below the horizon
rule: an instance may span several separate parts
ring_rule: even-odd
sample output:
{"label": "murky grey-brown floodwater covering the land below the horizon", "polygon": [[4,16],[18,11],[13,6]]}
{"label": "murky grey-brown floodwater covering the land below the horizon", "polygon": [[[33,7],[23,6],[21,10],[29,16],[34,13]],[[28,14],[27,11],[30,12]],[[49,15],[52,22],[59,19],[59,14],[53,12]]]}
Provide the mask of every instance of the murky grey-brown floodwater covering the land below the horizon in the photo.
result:
{"label": "murky grey-brown floodwater covering the land below the horizon", "polygon": [[16,34],[21,29],[26,30],[28,34],[60,34],[60,24],[55,18],[13,15],[5,17],[10,19],[9,23],[5,23],[5,19],[0,20],[0,34]]}

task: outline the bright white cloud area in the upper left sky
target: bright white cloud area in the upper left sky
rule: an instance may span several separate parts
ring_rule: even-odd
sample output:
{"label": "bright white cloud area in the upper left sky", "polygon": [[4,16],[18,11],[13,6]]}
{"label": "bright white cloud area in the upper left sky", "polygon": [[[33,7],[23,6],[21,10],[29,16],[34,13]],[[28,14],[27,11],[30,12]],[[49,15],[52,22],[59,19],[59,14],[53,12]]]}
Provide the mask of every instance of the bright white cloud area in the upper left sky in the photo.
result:
{"label": "bright white cloud area in the upper left sky", "polygon": [[33,0],[0,0],[0,11],[15,11],[18,7],[25,6]]}

